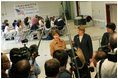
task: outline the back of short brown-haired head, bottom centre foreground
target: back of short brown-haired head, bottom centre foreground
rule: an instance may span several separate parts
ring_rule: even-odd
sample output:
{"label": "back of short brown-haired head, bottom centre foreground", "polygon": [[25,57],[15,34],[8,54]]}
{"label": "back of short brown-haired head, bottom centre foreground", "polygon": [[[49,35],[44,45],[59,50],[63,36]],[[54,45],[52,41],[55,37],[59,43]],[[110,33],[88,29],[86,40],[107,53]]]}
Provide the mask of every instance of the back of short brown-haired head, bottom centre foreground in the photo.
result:
{"label": "back of short brown-haired head, bottom centre foreground", "polygon": [[46,78],[58,78],[60,73],[59,67],[60,62],[57,59],[47,60],[44,65]]}

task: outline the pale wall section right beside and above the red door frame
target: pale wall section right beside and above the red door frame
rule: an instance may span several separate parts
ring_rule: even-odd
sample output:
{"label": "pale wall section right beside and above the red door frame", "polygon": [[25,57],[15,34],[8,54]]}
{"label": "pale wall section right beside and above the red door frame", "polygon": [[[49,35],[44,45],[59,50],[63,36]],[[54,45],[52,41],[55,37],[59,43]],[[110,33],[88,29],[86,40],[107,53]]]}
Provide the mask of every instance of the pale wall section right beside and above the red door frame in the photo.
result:
{"label": "pale wall section right beside and above the red door frame", "polygon": [[92,1],[92,17],[94,25],[105,28],[106,19],[106,4],[117,4],[116,1]]}

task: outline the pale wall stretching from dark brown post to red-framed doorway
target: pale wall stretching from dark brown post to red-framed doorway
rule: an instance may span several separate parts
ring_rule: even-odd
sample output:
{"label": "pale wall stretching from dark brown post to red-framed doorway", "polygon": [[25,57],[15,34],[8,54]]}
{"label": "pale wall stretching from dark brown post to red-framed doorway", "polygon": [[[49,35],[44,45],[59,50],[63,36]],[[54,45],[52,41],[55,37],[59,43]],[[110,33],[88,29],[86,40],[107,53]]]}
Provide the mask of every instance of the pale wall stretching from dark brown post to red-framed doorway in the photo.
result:
{"label": "pale wall stretching from dark brown post to red-framed doorway", "polygon": [[[106,4],[117,4],[117,1],[79,1],[80,15],[90,15],[94,20],[94,25],[105,28],[106,20]],[[76,7],[76,4],[74,4]],[[76,9],[75,16],[76,16]]]}

